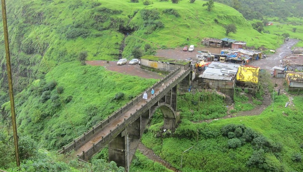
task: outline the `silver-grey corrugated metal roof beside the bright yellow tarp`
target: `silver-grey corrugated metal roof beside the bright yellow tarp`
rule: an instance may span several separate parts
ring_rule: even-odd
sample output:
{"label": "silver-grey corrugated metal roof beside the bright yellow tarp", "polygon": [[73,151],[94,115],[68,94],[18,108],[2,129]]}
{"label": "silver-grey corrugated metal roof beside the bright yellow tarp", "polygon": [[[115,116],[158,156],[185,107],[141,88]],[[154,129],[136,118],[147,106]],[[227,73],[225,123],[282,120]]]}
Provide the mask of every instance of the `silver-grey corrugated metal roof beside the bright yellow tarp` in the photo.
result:
{"label": "silver-grey corrugated metal roof beside the bright yellow tarp", "polygon": [[213,80],[233,80],[239,66],[235,63],[211,62],[199,77]]}

